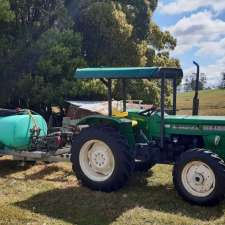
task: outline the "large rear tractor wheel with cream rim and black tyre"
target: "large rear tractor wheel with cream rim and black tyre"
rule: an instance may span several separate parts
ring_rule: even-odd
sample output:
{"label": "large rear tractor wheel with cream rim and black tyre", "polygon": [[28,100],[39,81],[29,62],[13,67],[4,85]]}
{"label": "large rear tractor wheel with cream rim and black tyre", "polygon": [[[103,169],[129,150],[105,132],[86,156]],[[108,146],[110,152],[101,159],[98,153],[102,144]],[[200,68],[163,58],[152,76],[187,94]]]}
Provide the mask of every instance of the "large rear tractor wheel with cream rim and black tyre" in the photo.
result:
{"label": "large rear tractor wheel with cream rim and black tyre", "polygon": [[87,187],[111,192],[122,187],[133,170],[126,140],[110,127],[90,127],[74,137],[71,161]]}

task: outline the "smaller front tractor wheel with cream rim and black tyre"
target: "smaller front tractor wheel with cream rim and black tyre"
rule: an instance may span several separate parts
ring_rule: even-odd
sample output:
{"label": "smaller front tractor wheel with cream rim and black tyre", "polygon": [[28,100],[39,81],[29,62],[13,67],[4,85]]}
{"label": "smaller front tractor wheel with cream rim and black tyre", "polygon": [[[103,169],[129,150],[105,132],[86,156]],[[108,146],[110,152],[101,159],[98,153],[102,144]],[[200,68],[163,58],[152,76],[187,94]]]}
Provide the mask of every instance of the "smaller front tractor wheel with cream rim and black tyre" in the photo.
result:
{"label": "smaller front tractor wheel with cream rim and black tyre", "polygon": [[224,161],[204,149],[182,153],[173,169],[173,182],[178,193],[196,205],[211,206],[222,201],[224,179]]}

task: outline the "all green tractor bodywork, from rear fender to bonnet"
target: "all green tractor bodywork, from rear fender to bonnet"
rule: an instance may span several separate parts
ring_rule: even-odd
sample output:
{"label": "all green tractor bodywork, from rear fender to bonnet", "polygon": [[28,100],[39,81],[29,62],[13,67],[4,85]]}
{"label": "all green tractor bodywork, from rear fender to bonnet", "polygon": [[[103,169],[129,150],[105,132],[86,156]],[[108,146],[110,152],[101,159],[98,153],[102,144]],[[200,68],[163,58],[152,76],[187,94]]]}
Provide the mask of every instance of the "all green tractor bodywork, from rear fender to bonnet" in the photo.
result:
{"label": "all green tractor bodywork, from rear fender to bonnet", "polygon": [[[132,120],[138,125],[132,127]],[[126,137],[131,147],[135,145],[137,134],[142,131],[149,139],[160,138],[160,113],[151,116],[139,115],[137,110],[129,112],[127,118],[115,118],[108,116],[89,116],[81,119],[78,124],[109,125],[117,127]],[[170,116],[165,115],[165,137],[174,135],[202,136],[204,148],[216,152],[225,159],[225,118],[217,116]],[[220,139],[215,145],[215,138]]]}

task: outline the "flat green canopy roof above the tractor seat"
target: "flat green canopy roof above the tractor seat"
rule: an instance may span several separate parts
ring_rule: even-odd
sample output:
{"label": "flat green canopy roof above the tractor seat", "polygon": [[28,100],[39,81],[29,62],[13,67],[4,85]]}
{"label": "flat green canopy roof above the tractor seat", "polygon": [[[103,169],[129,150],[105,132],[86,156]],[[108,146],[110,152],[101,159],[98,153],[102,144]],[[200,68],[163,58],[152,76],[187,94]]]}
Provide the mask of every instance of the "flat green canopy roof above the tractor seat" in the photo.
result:
{"label": "flat green canopy roof above the tractor seat", "polygon": [[120,78],[146,78],[159,79],[163,75],[167,79],[182,78],[182,69],[160,67],[112,67],[112,68],[85,68],[77,69],[75,77],[78,79],[120,79]]}

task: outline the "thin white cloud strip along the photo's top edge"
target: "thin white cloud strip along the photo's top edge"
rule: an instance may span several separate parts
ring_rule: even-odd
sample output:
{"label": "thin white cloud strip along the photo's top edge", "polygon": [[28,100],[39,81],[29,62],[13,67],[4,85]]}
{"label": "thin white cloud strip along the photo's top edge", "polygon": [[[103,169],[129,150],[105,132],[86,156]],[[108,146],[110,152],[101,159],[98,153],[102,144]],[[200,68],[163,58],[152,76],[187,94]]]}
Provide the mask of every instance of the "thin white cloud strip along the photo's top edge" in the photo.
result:
{"label": "thin white cloud strip along the photo's top edge", "polygon": [[160,12],[169,15],[193,12],[202,7],[209,7],[216,13],[221,13],[225,10],[224,0],[175,0],[159,4]]}

